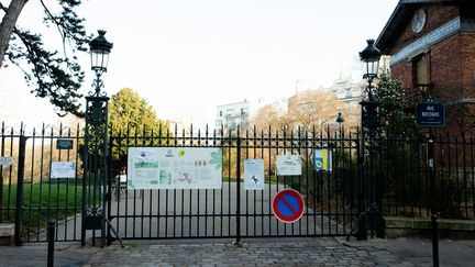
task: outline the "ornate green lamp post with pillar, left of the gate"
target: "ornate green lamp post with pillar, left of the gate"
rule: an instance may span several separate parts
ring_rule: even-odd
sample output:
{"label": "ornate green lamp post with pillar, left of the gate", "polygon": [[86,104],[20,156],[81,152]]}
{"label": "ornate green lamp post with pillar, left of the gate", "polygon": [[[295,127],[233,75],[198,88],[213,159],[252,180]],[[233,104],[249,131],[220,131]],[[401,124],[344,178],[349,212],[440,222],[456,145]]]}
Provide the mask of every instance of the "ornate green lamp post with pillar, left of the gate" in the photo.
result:
{"label": "ornate green lamp post with pillar, left of the gate", "polygon": [[93,91],[86,97],[86,131],[84,148],[82,178],[82,223],[81,244],[86,243],[86,231],[101,231],[101,246],[106,243],[106,203],[107,203],[107,158],[108,158],[108,102],[101,76],[107,71],[112,43],[106,37],[106,31],[98,31],[99,36],[90,45],[91,69],[96,74]]}

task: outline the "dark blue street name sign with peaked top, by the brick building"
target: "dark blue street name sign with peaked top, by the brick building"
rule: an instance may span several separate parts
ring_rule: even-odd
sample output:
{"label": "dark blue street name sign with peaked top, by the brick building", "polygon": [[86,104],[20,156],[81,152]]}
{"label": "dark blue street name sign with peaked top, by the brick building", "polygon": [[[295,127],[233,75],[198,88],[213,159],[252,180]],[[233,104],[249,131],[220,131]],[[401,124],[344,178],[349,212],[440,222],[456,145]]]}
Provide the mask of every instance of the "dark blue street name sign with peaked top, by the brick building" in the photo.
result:
{"label": "dark blue street name sign with peaked top, by the brick building", "polygon": [[422,127],[445,126],[445,105],[429,96],[416,108],[416,124]]}

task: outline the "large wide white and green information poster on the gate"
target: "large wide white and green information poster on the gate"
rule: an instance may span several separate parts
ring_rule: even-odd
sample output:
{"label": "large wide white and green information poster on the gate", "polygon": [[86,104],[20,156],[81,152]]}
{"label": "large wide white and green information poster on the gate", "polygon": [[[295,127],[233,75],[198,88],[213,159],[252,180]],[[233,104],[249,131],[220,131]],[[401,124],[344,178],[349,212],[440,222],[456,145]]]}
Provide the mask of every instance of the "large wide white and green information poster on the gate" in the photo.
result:
{"label": "large wide white and green information poster on the gate", "polygon": [[128,163],[128,189],[221,189],[221,148],[129,147]]}

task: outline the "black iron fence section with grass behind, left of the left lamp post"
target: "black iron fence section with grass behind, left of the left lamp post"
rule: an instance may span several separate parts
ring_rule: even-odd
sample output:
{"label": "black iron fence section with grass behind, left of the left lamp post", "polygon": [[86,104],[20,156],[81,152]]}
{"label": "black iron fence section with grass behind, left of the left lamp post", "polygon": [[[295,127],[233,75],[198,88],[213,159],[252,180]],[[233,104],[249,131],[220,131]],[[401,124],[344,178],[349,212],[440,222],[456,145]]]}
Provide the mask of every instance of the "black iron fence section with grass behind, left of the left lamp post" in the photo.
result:
{"label": "black iron fence section with grass behind, left of the left lamp post", "polygon": [[[73,146],[58,149],[58,140]],[[81,212],[81,131],[45,125],[26,130],[2,123],[0,129],[0,222],[15,223],[15,243],[46,241],[48,220],[58,223],[57,241],[76,241]],[[10,164],[11,160],[11,164]],[[8,162],[8,163],[7,163]],[[71,178],[51,178],[54,162],[74,163]],[[20,212],[18,212],[20,211]]]}

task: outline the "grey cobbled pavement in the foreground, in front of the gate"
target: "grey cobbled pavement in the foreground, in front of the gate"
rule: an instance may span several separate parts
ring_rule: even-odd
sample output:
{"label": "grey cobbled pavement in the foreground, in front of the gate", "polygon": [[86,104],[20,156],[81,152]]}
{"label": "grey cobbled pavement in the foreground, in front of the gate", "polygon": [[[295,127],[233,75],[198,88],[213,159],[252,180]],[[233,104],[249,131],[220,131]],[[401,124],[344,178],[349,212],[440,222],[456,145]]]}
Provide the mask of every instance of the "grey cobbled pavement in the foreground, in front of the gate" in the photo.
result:
{"label": "grey cobbled pavement in the foreground, in front of the gate", "polygon": [[[441,266],[473,266],[475,241],[440,244]],[[45,266],[46,244],[0,247],[0,266]],[[344,242],[344,238],[125,242],[99,248],[57,243],[55,266],[432,266],[428,240]]]}

